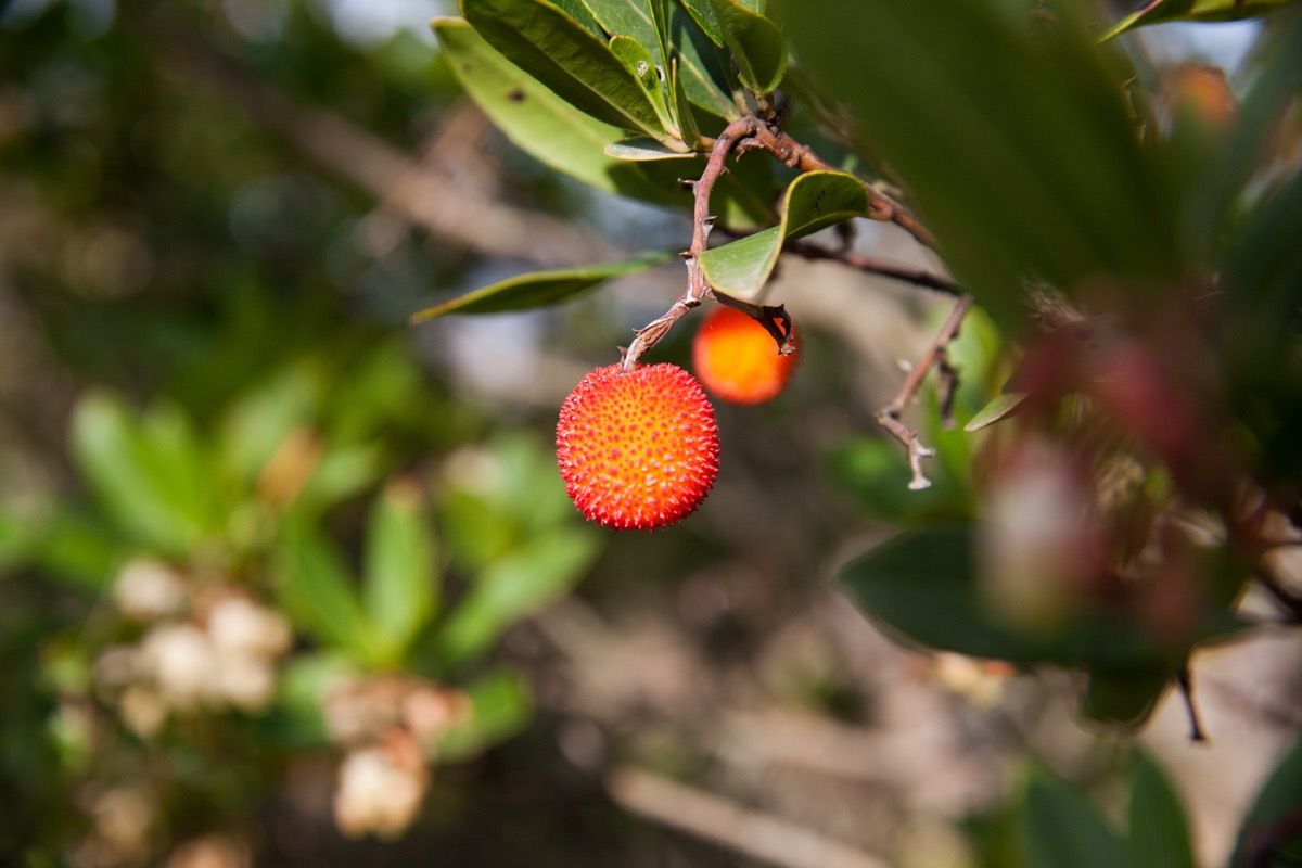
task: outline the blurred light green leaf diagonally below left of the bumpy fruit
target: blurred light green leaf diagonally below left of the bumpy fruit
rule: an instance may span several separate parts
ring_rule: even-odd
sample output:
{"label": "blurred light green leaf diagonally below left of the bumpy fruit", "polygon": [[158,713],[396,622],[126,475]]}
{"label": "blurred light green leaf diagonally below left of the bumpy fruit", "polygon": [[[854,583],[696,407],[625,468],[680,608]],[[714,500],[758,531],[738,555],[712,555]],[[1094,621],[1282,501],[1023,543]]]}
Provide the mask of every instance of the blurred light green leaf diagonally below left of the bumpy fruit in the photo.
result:
{"label": "blurred light green leaf diagonally below left of the bumpy fruit", "polygon": [[441,660],[458,664],[487,651],[513,621],[578,582],[598,550],[598,537],[589,528],[557,528],[490,563],[443,626]]}

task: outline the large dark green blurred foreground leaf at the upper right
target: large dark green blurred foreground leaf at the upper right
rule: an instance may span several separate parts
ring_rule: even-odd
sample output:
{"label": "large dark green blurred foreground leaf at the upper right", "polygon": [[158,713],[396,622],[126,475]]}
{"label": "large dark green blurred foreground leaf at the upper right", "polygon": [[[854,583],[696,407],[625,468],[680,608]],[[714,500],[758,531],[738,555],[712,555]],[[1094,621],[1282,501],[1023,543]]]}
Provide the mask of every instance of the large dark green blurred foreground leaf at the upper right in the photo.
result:
{"label": "large dark green blurred foreground leaf at the upper right", "polygon": [[802,65],[910,191],[958,281],[1004,327],[1027,276],[1134,292],[1181,276],[1169,193],[1098,48],[988,0],[788,0]]}

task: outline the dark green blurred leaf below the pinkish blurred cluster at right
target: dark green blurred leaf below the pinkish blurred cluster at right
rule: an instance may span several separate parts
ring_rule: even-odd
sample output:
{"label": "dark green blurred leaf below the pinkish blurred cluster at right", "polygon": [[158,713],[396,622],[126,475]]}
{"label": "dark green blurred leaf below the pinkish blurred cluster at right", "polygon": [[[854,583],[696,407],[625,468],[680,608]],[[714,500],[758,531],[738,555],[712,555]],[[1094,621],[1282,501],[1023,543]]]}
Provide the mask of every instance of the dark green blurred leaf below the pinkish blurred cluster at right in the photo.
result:
{"label": "dark green blurred leaf below the pinkish blurred cluster at right", "polygon": [[[868,616],[931,648],[1021,664],[1096,664],[1142,669],[1164,664],[1139,626],[1115,614],[1083,610],[1047,634],[999,619],[982,596],[973,527],[906,531],[861,554],[837,582]],[[1203,638],[1240,629],[1229,614],[1207,614]]]}

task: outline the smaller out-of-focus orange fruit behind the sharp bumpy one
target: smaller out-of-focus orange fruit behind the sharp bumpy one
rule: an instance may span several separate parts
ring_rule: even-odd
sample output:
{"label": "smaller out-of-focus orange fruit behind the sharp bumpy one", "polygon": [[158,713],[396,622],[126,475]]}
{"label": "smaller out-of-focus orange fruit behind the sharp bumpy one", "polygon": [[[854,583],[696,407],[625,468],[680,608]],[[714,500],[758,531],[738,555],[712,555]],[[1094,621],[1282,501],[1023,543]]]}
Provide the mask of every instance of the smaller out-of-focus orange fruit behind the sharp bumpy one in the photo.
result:
{"label": "smaller out-of-focus orange fruit behind the sharp bumpy one", "polygon": [[732,403],[764,403],[786,387],[796,355],[779,355],[763,325],[732,307],[716,307],[691,344],[691,366],[710,394]]}

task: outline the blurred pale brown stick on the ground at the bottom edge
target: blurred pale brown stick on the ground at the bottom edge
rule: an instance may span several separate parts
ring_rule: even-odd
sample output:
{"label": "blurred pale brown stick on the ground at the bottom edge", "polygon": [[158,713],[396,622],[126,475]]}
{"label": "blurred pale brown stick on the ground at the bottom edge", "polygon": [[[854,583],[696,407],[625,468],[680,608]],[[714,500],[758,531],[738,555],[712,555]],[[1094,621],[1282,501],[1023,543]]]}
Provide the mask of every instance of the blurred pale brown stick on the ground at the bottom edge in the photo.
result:
{"label": "blurred pale brown stick on the ground at the bottom edge", "polygon": [[605,789],[626,811],[784,868],[887,868],[845,843],[634,765],[616,766]]}

